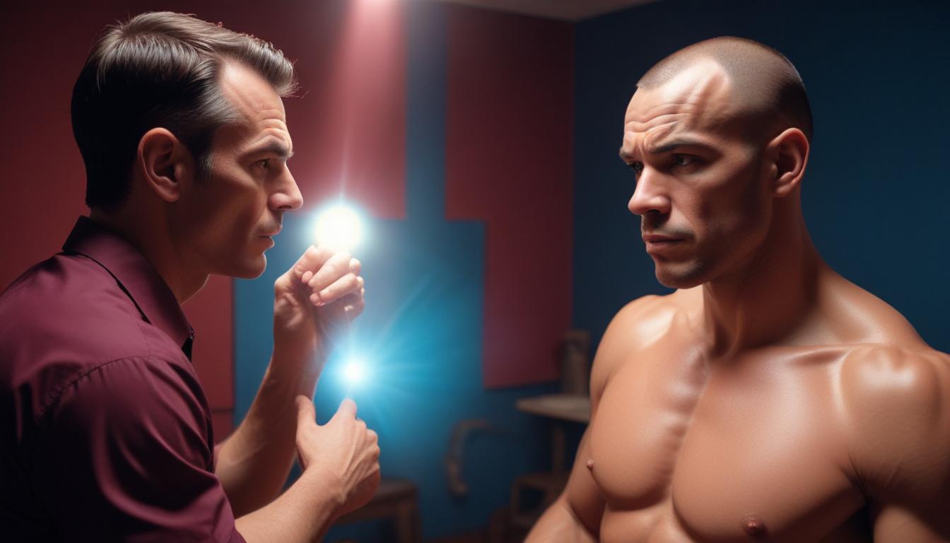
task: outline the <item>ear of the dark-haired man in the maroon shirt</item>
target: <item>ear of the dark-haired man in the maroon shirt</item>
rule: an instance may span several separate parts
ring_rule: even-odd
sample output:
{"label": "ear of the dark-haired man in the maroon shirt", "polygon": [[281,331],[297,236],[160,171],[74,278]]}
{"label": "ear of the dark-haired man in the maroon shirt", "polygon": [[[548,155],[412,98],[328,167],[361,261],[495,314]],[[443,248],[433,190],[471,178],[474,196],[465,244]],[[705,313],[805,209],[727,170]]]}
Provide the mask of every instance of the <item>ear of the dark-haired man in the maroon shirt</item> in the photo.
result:
{"label": "ear of the dark-haired man in the maroon shirt", "polygon": [[177,202],[182,184],[195,175],[191,152],[166,128],[152,128],[142,135],[137,158],[145,184],[165,202]]}

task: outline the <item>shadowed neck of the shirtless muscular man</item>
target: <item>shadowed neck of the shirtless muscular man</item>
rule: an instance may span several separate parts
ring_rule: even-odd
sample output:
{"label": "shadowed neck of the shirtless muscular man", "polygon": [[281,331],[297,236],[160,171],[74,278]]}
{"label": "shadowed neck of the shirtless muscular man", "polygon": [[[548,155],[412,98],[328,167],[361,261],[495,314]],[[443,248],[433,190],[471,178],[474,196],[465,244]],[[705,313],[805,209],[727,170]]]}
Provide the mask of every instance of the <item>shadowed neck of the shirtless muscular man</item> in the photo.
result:
{"label": "shadowed neck of the shirtless muscular man", "polygon": [[825,269],[803,221],[771,232],[739,272],[703,284],[710,356],[791,340],[814,307]]}

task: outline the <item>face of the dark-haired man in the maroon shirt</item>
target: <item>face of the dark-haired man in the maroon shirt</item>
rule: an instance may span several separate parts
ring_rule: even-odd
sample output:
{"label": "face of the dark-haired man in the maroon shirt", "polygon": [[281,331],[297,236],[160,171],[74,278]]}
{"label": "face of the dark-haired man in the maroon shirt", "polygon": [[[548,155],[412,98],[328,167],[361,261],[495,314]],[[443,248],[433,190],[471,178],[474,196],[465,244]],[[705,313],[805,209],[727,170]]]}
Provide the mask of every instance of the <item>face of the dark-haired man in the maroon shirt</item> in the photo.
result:
{"label": "face of the dark-haired man in the maroon shirt", "polygon": [[293,143],[283,102],[266,80],[228,62],[219,85],[241,120],[218,128],[211,175],[182,188],[171,228],[185,256],[208,273],[255,278],[283,213],[302,204],[287,168]]}

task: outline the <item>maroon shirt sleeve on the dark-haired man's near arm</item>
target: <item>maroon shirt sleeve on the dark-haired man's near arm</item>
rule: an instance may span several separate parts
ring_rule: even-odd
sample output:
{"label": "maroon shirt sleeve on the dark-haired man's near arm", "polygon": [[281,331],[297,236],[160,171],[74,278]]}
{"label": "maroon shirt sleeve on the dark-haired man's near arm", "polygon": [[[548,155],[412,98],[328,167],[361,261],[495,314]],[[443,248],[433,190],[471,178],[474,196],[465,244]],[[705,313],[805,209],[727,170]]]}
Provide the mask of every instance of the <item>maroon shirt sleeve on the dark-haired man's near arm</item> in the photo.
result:
{"label": "maroon shirt sleeve on the dark-haired man's near arm", "polygon": [[[196,388],[197,387],[197,388]],[[47,414],[47,496],[68,540],[243,542],[214,474],[194,373],[119,359],[72,382]]]}

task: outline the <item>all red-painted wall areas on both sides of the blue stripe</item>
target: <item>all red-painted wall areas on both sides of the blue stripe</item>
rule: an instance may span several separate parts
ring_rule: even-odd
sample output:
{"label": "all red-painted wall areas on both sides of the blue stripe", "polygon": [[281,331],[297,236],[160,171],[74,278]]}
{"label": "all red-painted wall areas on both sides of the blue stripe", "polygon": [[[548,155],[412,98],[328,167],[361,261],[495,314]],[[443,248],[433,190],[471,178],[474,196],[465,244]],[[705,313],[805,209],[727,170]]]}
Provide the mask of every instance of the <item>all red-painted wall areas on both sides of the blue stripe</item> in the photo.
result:
{"label": "all red-painted wall areas on both sides of the blue stripe", "polygon": [[[83,204],[69,96],[93,37],[144,10],[195,12],[273,41],[301,96],[285,101],[305,209],[345,191],[377,218],[405,218],[406,39],[400,2],[105,0],[0,18],[4,84],[0,286],[56,252]],[[453,7],[448,19],[447,218],[487,223],[488,387],[557,378],[570,322],[571,27]],[[231,280],[212,278],[185,312],[217,436],[234,407]]]}

